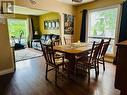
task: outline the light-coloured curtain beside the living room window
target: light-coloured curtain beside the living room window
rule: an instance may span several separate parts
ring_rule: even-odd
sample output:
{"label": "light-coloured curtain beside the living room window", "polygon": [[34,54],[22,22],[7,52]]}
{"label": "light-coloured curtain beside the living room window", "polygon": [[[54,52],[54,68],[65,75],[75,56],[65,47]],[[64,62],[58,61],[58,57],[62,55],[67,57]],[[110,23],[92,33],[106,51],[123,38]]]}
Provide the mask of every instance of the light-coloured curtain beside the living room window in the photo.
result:
{"label": "light-coloured curtain beside the living room window", "polygon": [[28,18],[28,28],[29,28],[28,47],[31,47],[31,40],[33,39],[33,23],[31,18]]}

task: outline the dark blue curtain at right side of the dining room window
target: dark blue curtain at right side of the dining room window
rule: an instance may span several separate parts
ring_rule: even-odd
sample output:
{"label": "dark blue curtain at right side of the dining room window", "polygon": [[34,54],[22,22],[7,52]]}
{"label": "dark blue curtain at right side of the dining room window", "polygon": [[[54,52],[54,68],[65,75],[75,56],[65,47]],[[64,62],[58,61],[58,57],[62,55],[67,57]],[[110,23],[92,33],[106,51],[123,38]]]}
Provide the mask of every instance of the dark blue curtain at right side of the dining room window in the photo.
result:
{"label": "dark blue curtain at right side of the dining room window", "polygon": [[122,17],[118,42],[127,40],[127,1],[122,4]]}

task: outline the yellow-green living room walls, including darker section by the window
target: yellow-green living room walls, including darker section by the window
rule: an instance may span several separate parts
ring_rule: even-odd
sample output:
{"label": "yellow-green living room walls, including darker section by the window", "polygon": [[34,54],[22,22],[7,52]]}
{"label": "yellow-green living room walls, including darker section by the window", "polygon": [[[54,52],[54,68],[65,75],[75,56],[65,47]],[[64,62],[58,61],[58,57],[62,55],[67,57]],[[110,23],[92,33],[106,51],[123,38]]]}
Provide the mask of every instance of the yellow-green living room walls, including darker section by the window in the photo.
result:
{"label": "yellow-green living room walls, including darker section by the window", "polygon": [[57,34],[60,35],[60,27],[59,29],[44,29],[44,21],[46,20],[56,20],[59,19],[60,22],[60,14],[57,12],[49,12],[40,16],[33,15],[22,15],[16,14],[15,19],[27,19],[31,18],[33,21],[33,29],[34,31],[38,31],[38,36],[34,38],[40,38],[42,34]]}

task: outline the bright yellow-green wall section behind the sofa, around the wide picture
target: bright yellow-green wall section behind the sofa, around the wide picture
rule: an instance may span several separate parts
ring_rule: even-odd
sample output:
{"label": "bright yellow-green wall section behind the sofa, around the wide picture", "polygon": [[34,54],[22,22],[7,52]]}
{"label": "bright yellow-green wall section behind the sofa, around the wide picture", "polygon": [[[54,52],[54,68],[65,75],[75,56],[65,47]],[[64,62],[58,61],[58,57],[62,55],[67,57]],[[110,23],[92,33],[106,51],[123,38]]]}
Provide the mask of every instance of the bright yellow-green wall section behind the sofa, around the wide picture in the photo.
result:
{"label": "bright yellow-green wall section behind the sofa, around the wide picture", "polygon": [[44,21],[46,20],[55,20],[59,19],[60,22],[60,14],[57,12],[50,12],[47,14],[43,14],[39,16],[39,25],[40,25],[40,32],[42,34],[60,34],[60,28],[59,29],[44,29]]}

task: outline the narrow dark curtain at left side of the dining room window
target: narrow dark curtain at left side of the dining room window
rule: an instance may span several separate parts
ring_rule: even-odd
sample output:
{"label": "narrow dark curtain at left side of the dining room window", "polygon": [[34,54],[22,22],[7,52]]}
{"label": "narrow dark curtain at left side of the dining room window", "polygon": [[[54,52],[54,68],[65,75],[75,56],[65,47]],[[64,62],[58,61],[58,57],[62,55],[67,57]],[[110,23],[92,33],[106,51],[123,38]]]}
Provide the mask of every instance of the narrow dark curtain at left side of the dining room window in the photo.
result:
{"label": "narrow dark curtain at left side of the dining room window", "polygon": [[86,39],[86,16],[87,10],[83,10],[82,12],[82,25],[81,25],[81,33],[80,33],[80,41],[85,42]]}

